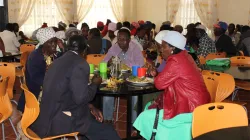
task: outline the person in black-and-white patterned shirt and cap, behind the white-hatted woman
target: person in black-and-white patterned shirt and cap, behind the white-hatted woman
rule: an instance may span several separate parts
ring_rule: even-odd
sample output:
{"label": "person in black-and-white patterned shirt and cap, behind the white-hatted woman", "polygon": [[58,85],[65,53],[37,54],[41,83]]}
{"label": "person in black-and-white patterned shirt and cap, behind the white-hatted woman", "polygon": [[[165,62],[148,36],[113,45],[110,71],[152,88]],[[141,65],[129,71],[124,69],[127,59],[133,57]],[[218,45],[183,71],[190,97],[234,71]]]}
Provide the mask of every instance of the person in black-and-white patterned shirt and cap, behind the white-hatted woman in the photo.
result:
{"label": "person in black-and-white patterned shirt and cap, behind the white-hatted woman", "polygon": [[207,28],[204,25],[198,25],[196,27],[196,37],[199,39],[199,47],[197,49],[197,55],[206,57],[210,53],[216,52],[214,41],[207,35]]}

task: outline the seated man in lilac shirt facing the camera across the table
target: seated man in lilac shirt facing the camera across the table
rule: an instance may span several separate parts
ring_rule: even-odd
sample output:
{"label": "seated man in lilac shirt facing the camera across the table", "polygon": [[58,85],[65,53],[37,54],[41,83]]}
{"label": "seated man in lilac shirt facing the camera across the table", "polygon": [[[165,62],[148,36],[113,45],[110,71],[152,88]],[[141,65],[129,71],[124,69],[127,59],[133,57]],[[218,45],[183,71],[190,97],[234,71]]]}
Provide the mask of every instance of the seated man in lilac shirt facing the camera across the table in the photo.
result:
{"label": "seated man in lilac shirt facing the camera across the table", "polygon": [[[130,31],[127,29],[120,29],[117,36],[118,42],[114,44],[108,51],[104,62],[108,62],[113,56],[118,56],[121,62],[129,67],[134,65],[144,66],[144,57],[140,48],[137,46],[134,41],[130,39]],[[113,110],[114,110],[114,98],[113,97],[104,97],[103,98],[103,114],[104,119],[110,121],[113,119]],[[137,97],[133,97],[132,107],[137,102]],[[135,120],[136,112],[133,111],[132,119]]]}

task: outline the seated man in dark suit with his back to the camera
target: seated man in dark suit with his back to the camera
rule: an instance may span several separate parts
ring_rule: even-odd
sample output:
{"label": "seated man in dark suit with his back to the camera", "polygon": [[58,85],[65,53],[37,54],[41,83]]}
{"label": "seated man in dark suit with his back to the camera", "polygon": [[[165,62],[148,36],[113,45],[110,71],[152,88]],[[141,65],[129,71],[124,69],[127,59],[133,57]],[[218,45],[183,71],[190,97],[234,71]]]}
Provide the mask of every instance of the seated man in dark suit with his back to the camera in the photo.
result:
{"label": "seated man in dark suit with his back to the camera", "polygon": [[90,140],[120,139],[112,126],[100,123],[101,112],[89,104],[102,79],[94,76],[88,84],[90,68],[83,57],[87,53],[84,37],[72,36],[67,46],[69,51],[56,59],[45,75],[40,114],[31,129],[41,138],[79,132]]}

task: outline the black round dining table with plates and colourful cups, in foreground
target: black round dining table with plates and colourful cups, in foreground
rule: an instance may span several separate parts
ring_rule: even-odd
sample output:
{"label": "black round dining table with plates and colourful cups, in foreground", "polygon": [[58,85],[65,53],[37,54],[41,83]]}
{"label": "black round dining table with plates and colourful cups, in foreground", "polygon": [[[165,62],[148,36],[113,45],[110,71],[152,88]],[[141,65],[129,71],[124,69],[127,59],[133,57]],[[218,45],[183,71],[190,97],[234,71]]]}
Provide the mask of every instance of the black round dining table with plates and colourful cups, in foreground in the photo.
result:
{"label": "black round dining table with plates and colourful cups, in foreground", "polygon": [[155,94],[159,91],[155,88],[153,83],[148,84],[133,84],[124,81],[117,85],[117,88],[107,88],[105,85],[101,85],[97,91],[97,96],[109,96],[109,97],[125,97],[127,99],[127,122],[126,122],[126,138],[124,139],[141,139],[139,134],[137,136],[131,136],[132,132],[132,97],[138,96],[137,102],[137,114],[139,115],[143,111],[143,96],[148,94]]}

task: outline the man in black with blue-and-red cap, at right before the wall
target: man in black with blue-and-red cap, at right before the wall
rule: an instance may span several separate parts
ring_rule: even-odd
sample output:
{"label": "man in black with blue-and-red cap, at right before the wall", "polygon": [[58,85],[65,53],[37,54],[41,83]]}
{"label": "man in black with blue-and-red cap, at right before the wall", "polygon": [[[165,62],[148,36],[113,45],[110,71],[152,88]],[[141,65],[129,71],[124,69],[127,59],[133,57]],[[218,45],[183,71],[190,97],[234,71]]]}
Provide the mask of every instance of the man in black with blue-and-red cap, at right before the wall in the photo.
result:
{"label": "man in black with blue-and-red cap, at right before the wall", "polygon": [[227,55],[234,56],[237,51],[232,39],[225,34],[227,27],[227,23],[221,21],[214,25],[215,46],[217,52],[226,52]]}

